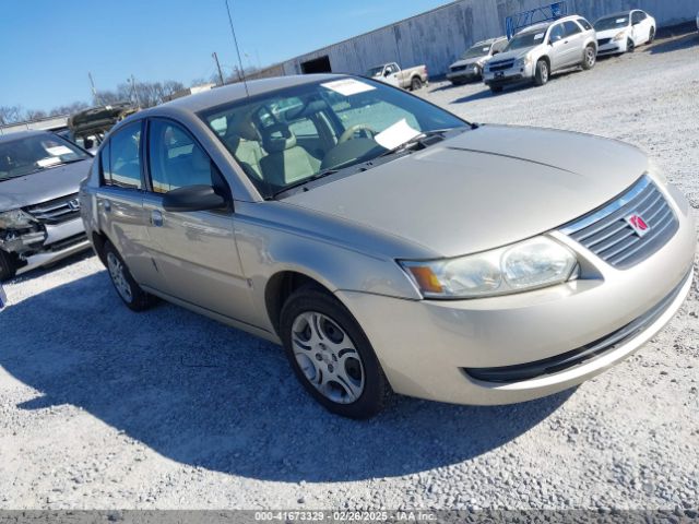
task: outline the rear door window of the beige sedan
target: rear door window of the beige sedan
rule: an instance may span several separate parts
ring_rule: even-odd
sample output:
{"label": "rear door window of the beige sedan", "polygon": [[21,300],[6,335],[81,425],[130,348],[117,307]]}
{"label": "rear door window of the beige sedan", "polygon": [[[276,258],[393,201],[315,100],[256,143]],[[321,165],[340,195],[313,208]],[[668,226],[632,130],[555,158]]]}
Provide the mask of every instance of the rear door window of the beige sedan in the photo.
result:
{"label": "rear door window of the beige sedan", "polygon": [[141,121],[121,128],[105,147],[109,155],[103,162],[104,182],[119,188],[141,189]]}

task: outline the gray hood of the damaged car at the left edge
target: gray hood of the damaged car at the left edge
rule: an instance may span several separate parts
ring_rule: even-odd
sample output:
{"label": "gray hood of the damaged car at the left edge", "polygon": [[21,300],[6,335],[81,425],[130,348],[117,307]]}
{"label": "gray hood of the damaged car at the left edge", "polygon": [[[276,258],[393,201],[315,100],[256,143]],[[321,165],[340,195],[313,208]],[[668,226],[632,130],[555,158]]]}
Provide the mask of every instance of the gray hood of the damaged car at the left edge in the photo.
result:
{"label": "gray hood of the damaged car at the left edge", "polygon": [[91,165],[92,159],[86,159],[1,181],[0,211],[16,210],[76,193]]}

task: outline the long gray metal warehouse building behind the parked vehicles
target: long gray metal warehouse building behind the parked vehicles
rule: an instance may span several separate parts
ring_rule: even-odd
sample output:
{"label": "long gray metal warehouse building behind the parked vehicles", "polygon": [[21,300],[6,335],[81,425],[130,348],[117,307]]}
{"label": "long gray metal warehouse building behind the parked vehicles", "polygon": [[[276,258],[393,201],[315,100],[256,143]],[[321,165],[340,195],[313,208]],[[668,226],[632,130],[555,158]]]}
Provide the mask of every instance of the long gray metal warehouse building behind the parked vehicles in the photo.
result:
{"label": "long gray metal warehouse building behind the parked vehicles", "polygon": [[[553,0],[552,0],[553,1]],[[254,76],[316,72],[363,73],[372,66],[426,64],[431,76],[447,71],[473,43],[505,35],[508,15],[542,7],[547,0],[458,0],[391,25],[307,52],[259,71]],[[568,13],[594,21],[628,9],[643,9],[660,26],[694,20],[697,0],[568,0]]]}

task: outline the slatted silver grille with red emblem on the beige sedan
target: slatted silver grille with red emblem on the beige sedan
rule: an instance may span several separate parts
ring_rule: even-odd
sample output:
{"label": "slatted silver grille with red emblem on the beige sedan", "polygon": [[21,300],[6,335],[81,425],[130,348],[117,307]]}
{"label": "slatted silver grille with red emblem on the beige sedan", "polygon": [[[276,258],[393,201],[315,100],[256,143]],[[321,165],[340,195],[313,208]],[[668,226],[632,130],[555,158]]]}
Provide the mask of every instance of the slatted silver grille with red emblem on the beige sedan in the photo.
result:
{"label": "slatted silver grille with red emblem on the beige sedan", "polygon": [[[632,216],[639,216],[648,226],[641,231],[643,236],[629,223]],[[626,270],[656,252],[678,228],[663,193],[644,176],[617,200],[564,226],[561,233],[614,267]]]}

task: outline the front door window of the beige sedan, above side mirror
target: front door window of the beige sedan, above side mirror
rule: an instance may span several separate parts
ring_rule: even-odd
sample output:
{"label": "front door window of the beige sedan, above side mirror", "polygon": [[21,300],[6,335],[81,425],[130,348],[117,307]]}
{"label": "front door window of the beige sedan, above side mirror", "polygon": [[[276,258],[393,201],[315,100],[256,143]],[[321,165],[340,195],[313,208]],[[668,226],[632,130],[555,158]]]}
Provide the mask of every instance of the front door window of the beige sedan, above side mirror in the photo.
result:
{"label": "front door window of the beige sedan, above side mirror", "polygon": [[166,193],[186,186],[214,186],[211,158],[179,124],[153,119],[149,126],[151,187]]}

